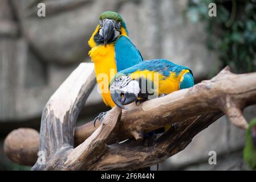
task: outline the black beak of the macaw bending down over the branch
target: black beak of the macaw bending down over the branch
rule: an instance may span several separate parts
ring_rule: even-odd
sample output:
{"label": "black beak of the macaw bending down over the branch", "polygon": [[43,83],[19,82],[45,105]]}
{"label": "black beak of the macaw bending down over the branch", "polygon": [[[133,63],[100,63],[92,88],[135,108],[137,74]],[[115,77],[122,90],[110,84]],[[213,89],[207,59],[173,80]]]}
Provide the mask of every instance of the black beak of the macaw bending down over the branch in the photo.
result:
{"label": "black beak of the macaw bending down over the branch", "polygon": [[131,104],[133,101],[136,101],[137,97],[133,93],[121,93],[120,90],[118,91],[115,90],[114,93],[111,93],[111,98],[117,106],[127,110],[124,105]]}

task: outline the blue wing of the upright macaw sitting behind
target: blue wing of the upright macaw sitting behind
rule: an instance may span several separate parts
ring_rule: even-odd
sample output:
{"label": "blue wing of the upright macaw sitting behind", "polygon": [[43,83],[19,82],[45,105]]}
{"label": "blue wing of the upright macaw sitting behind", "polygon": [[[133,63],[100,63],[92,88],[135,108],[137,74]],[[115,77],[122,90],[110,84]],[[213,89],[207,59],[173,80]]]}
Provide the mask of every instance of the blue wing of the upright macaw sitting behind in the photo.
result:
{"label": "blue wing of the upright macaw sitting behind", "polygon": [[127,36],[120,36],[115,43],[115,59],[117,72],[143,61],[140,51],[132,44]]}

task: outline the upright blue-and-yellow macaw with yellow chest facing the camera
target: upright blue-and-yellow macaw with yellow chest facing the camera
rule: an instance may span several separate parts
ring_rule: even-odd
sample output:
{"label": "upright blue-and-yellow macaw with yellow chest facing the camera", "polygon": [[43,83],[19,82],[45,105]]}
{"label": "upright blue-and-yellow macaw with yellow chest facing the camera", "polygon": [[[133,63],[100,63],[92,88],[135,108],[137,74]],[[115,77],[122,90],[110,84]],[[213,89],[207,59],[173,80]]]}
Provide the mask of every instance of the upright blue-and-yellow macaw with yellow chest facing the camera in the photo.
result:
{"label": "upright blue-and-yellow macaw with yellow chest facing the camera", "polygon": [[[99,24],[88,44],[88,55],[94,62],[96,81],[99,85],[103,102],[115,106],[109,92],[109,81],[117,72],[132,67],[143,61],[140,51],[128,38],[127,26],[120,14],[105,11],[99,17]],[[107,112],[100,113],[94,120],[104,118]]]}

